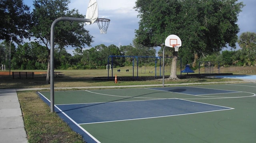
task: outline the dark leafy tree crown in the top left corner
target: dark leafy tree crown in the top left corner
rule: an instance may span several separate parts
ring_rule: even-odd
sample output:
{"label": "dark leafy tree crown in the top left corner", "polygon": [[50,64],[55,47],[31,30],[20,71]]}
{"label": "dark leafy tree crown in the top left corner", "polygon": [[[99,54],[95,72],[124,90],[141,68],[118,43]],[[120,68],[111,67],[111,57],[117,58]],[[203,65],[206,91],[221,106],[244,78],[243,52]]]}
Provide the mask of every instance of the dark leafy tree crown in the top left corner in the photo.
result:
{"label": "dark leafy tree crown in the top left corner", "polygon": [[29,38],[31,14],[30,8],[23,4],[23,0],[0,1],[0,39],[22,43]]}

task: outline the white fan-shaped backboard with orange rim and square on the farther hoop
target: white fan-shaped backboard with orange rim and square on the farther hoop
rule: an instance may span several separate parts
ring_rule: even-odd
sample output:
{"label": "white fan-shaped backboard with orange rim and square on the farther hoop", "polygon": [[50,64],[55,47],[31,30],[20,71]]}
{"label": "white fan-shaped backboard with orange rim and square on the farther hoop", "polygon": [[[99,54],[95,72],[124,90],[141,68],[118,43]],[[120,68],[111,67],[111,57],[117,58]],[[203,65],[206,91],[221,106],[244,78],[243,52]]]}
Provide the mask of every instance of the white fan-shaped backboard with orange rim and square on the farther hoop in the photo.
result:
{"label": "white fan-shaped backboard with orange rim and square on the farther hoop", "polygon": [[182,46],[182,42],[180,40],[180,37],[172,34],[165,39],[164,45],[166,45],[167,47],[173,47],[175,48],[175,51],[178,51],[178,48]]}

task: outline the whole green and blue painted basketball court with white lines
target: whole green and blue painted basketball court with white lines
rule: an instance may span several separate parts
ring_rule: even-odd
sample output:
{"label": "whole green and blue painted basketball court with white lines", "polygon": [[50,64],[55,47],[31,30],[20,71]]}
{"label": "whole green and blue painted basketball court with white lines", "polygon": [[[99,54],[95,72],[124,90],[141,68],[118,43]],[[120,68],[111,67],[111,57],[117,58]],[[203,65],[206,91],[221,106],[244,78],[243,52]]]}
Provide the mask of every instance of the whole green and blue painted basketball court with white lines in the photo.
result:
{"label": "whole green and blue painted basketball court with white lines", "polygon": [[255,83],[54,92],[87,143],[256,143],[255,93]]}

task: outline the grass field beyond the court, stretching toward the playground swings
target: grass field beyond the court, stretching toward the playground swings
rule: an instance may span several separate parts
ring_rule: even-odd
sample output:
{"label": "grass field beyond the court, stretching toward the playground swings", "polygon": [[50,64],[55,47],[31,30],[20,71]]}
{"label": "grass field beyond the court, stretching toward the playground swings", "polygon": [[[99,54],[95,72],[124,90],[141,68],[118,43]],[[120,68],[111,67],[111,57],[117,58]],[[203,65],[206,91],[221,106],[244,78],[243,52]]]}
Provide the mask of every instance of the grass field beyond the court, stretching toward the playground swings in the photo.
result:
{"label": "grass field beyond the court, stretching toward the playground swings", "polygon": [[[116,69],[113,69],[116,71]],[[1,75],[0,78],[1,88],[50,88],[50,84],[46,84],[46,78],[43,73],[46,71],[36,71],[38,73],[34,76],[34,79],[12,79],[12,76]],[[148,84],[162,84],[162,79],[148,80],[148,81],[118,81],[117,84],[113,81],[96,81],[92,80],[92,77],[108,76],[105,70],[56,70],[62,72],[63,78],[54,78],[54,87],[86,87],[86,86],[126,86],[126,85],[148,85]],[[132,76],[132,72],[118,72],[117,76]],[[136,74],[135,74],[136,75]],[[146,73],[139,76],[152,76],[152,74]],[[168,75],[168,74],[167,74]],[[110,74],[111,76],[111,74]],[[153,75],[154,76],[154,75]],[[192,83],[192,82],[218,82],[218,81],[236,81],[235,79],[219,79],[219,78],[188,78],[181,80],[165,80],[165,84],[180,84],[180,83]]]}

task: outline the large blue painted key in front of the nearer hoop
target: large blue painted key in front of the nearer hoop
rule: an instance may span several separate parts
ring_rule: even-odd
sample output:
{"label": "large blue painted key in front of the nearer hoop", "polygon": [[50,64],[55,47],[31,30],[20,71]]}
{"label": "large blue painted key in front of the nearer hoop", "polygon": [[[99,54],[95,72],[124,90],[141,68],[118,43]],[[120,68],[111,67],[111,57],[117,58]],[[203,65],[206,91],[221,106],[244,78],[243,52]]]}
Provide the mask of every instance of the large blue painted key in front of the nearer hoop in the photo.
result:
{"label": "large blue painted key in front of the nearer hoop", "polygon": [[78,124],[157,118],[232,109],[180,99],[69,104],[58,105],[58,108],[72,117]]}

